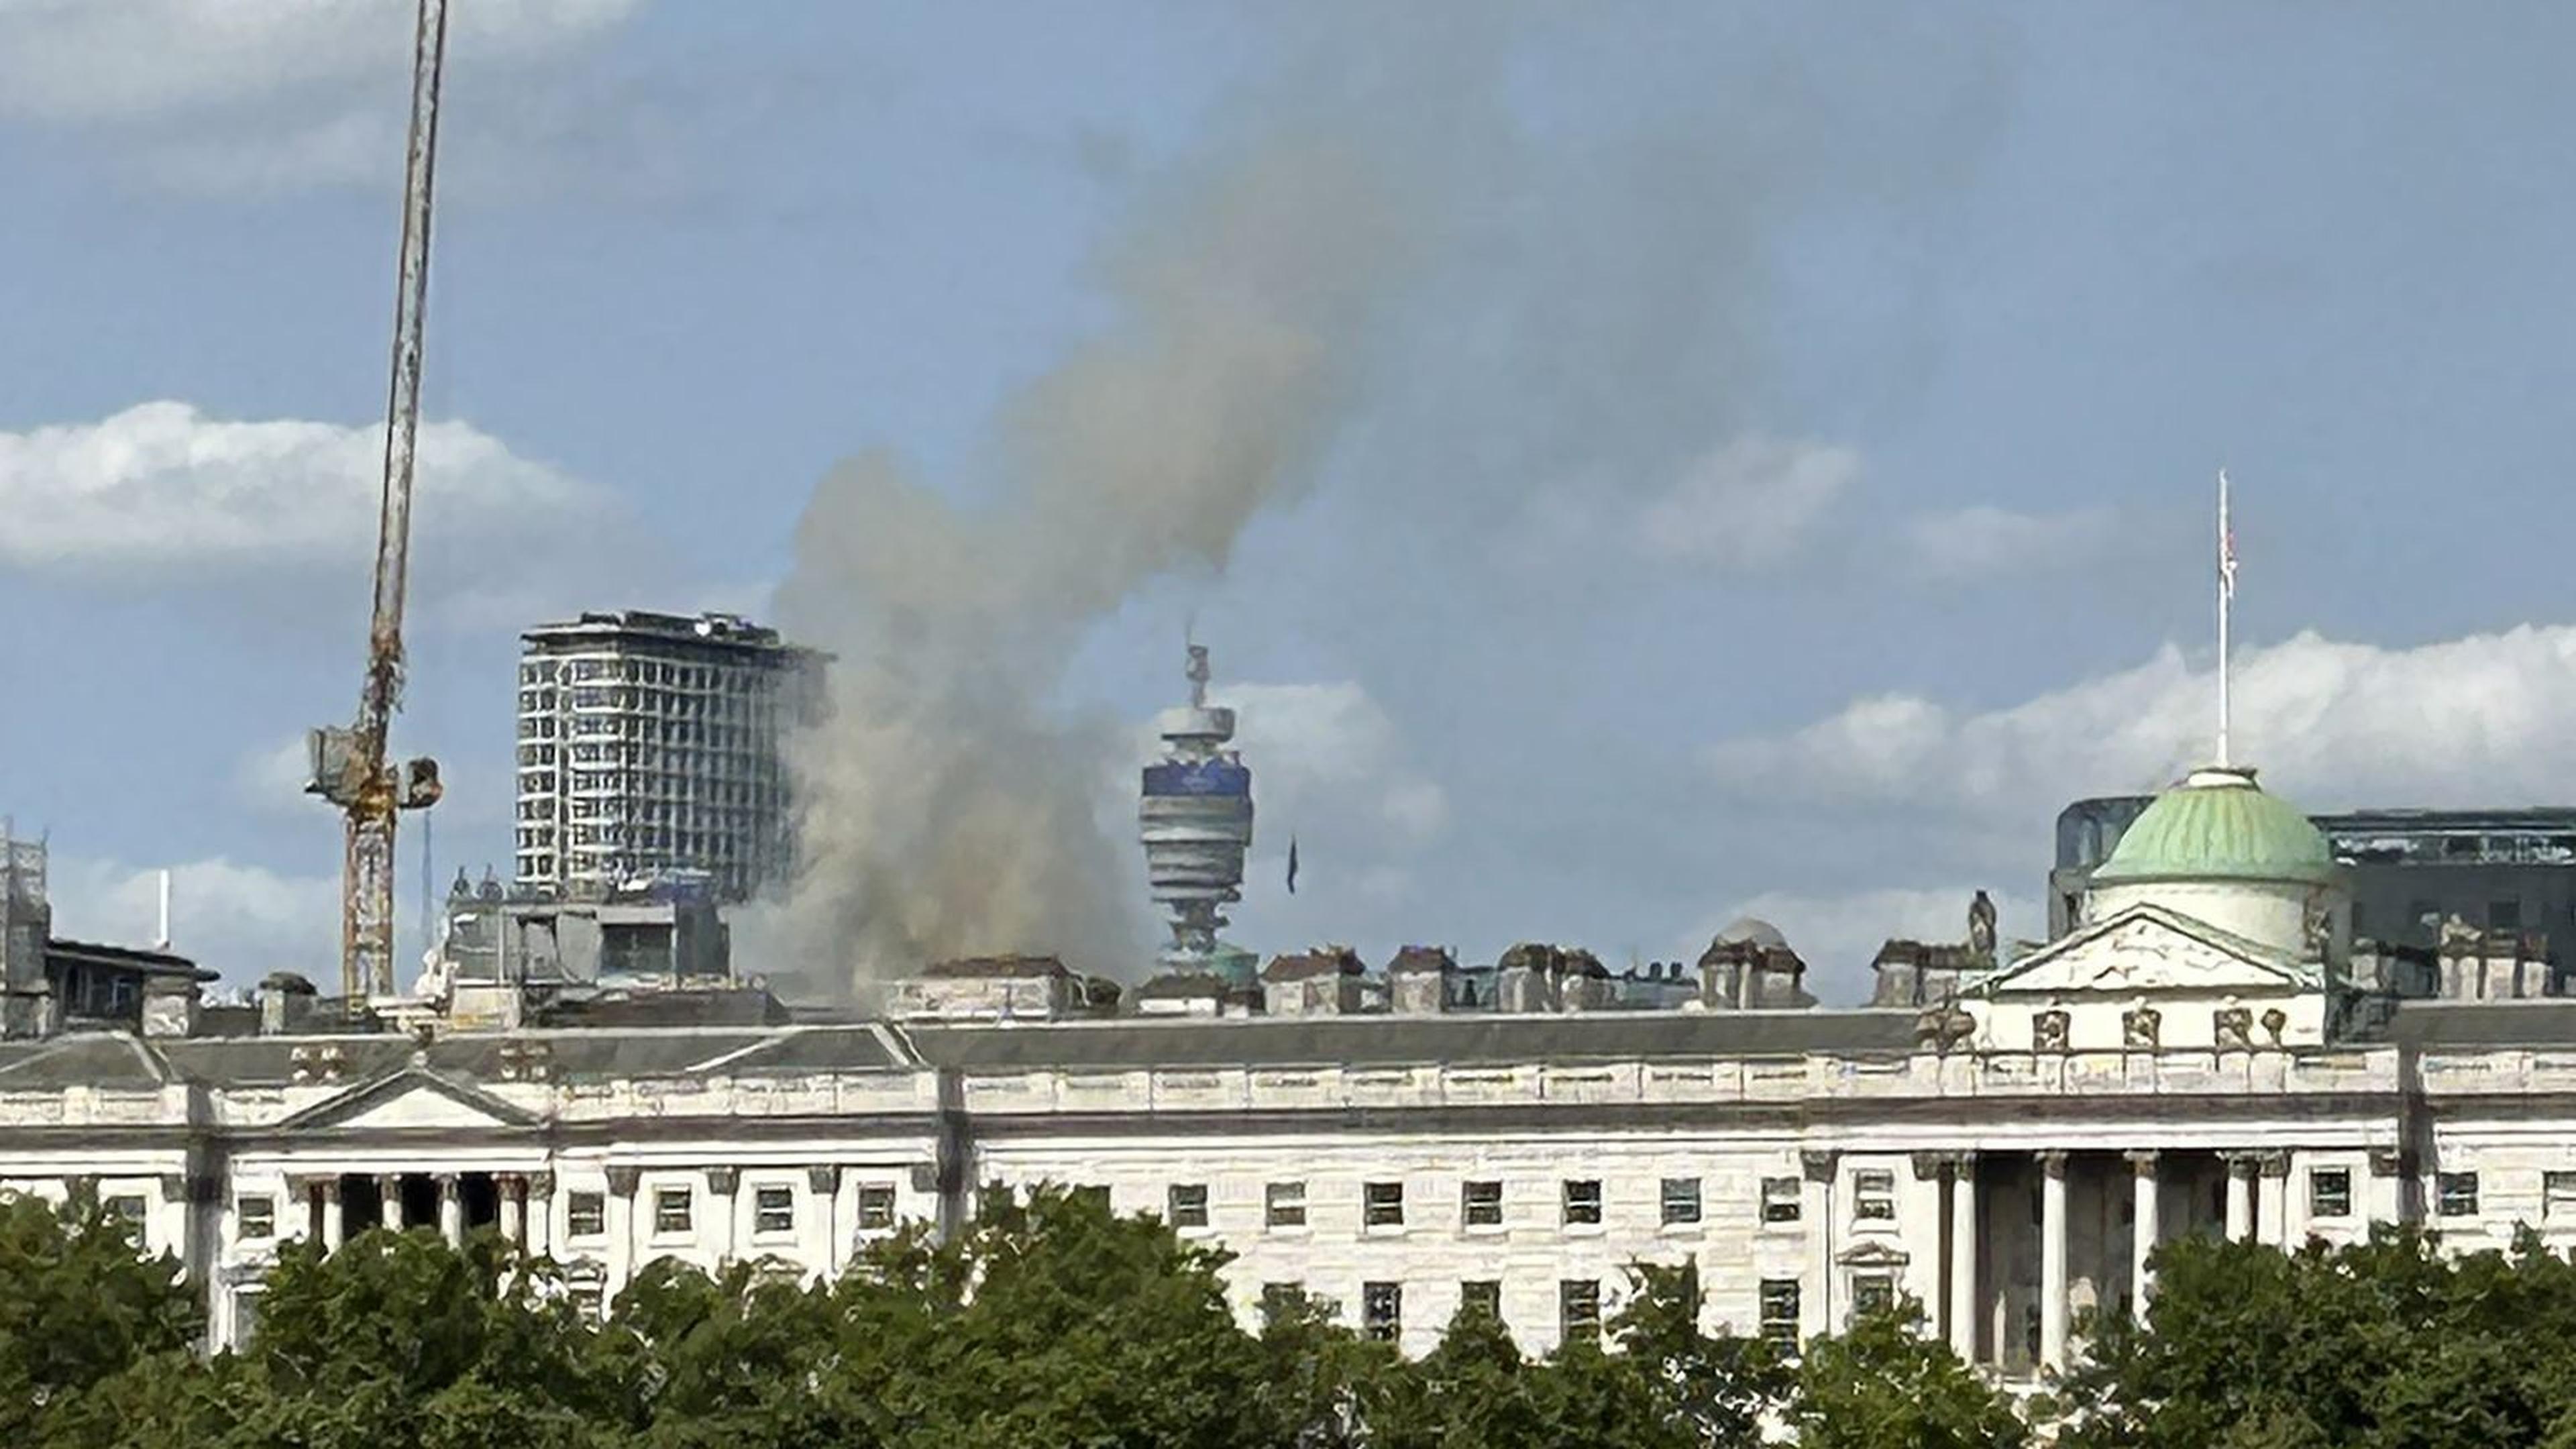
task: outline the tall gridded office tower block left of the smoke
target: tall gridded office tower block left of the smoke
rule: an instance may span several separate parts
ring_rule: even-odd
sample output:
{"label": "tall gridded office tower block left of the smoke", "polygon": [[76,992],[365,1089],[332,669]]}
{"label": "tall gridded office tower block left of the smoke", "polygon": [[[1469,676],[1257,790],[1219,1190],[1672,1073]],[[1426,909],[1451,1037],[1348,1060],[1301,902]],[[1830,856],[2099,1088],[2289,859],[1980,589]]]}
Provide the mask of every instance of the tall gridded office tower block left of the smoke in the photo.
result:
{"label": "tall gridded office tower block left of the smoke", "polygon": [[793,864],[786,735],[824,655],[732,614],[582,614],[520,634],[518,884],[595,895],[703,871],[721,900]]}

